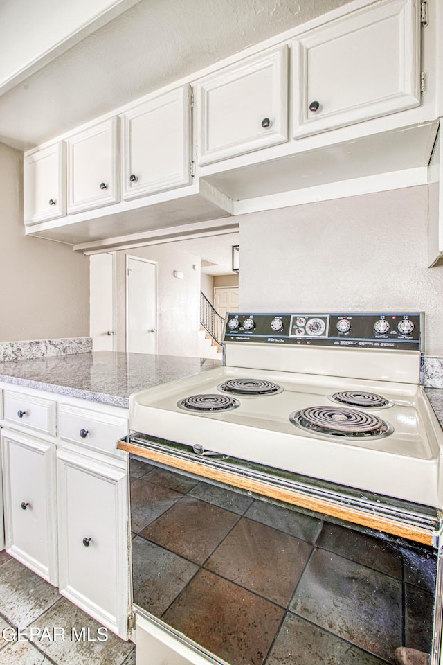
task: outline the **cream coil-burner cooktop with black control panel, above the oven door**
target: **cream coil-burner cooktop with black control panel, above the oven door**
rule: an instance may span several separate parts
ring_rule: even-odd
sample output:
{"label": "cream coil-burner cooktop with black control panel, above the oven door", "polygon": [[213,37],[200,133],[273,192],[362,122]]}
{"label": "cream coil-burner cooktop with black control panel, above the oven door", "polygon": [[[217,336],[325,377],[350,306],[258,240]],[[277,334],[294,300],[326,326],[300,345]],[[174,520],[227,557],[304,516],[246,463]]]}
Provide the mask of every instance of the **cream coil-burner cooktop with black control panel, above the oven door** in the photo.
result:
{"label": "cream coil-burner cooktop with black control panel, above the oven door", "polygon": [[422,314],[228,314],[224,366],[136,393],[132,429],[442,507]]}

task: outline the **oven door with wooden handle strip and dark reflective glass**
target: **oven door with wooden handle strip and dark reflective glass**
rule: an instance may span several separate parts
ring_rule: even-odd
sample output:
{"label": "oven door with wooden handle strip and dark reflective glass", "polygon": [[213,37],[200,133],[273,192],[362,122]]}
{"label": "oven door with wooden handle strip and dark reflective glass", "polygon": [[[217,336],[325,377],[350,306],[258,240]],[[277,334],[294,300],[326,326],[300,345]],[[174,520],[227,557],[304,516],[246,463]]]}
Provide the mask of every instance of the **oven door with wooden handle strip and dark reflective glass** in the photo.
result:
{"label": "oven door with wooden handle strip and dark reflective glass", "polygon": [[[395,521],[383,497],[365,497],[380,505],[368,509],[372,529],[293,504],[300,477],[271,482],[257,465],[143,435],[120,447],[132,452],[137,665],[154,654],[168,665],[380,665],[400,646],[437,665],[438,549],[410,540],[437,533],[435,511],[410,506],[408,524],[407,506],[393,502],[404,538],[381,531],[380,520]],[[331,486],[317,490],[334,504]],[[342,497],[343,514],[358,497]]]}

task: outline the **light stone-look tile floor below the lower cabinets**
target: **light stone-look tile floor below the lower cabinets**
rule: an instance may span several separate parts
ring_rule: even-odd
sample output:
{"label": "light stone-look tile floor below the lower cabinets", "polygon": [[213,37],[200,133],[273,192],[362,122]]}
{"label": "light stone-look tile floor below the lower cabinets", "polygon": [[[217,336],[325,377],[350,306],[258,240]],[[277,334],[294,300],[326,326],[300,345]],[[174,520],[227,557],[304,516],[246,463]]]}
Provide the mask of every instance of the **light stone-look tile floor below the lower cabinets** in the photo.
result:
{"label": "light stone-look tile floor below the lower cabinets", "polygon": [[[5,628],[10,630],[3,632]],[[8,641],[18,628],[24,629],[24,639]],[[29,639],[31,628],[33,639]],[[80,641],[72,639],[73,628]],[[110,631],[107,641],[89,641],[88,635],[90,640],[97,637],[98,628],[97,621],[60,596],[55,587],[0,552],[0,665],[135,665],[132,642]]]}

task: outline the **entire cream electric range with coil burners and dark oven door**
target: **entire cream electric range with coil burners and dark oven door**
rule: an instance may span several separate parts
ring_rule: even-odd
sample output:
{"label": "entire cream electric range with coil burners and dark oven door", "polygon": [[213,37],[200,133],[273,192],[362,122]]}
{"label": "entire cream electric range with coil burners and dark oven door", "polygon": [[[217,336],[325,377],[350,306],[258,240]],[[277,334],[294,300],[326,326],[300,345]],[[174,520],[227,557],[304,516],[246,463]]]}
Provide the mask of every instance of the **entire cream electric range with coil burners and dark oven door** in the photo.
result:
{"label": "entire cream electric range with coil burners and dark oven door", "polygon": [[423,332],[419,313],[230,313],[224,366],[130,398],[141,663],[394,662],[399,646],[441,662]]}

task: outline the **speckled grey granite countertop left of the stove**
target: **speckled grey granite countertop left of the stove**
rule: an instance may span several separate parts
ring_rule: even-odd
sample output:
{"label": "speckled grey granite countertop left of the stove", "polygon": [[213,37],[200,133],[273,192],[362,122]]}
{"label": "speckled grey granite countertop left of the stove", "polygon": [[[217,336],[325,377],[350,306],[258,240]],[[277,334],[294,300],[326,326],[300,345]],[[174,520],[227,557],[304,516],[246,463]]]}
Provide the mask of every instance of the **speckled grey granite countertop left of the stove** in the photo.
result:
{"label": "speckled grey granite countertop left of the stove", "polygon": [[221,360],[94,351],[0,362],[0,381],[129,407],[129,395],[221,366]]}

